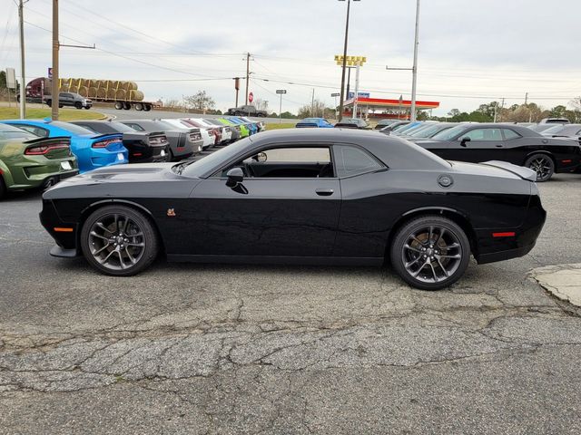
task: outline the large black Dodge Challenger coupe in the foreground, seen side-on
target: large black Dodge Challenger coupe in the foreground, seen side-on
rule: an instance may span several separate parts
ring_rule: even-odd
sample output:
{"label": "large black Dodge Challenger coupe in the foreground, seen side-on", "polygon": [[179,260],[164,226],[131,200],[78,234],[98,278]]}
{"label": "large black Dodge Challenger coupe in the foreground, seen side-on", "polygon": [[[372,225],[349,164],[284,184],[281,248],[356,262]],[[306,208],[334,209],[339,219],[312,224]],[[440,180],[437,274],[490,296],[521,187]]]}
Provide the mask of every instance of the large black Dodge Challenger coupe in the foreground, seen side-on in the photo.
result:
{"label": "large black Dodge Challenger coupe in the foreground, seen side-on", "polygon": [[43,195],[54,256],[108,275],[171,261],[381,265],[436,290],[524,256],[545,223],[534,171],[446,161],[378,131],[267,131],[196,161],[97,169]]}

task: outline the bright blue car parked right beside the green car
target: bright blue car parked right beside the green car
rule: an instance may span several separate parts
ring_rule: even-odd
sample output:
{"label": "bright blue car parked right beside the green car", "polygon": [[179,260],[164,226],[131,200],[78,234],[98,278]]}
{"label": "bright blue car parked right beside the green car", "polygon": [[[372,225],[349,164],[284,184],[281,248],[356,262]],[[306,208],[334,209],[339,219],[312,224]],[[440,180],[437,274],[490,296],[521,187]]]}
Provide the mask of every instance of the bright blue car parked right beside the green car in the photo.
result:
{"label": "bright blue car parked right beside the green car", "polygon": [[69,137],[81,173],[104,166],[128,163],[122,134],[96,134],[84,127],[61,121],[1,121],[41,138]]}

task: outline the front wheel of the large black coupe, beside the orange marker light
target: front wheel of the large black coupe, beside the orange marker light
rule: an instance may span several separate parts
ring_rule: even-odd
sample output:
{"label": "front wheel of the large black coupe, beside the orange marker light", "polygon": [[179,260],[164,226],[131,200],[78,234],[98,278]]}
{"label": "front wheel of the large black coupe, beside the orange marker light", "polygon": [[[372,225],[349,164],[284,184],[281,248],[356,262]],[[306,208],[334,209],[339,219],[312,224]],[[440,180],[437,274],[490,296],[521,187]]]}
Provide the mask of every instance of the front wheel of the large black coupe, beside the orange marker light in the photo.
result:
{"label": "front wheel of the large black coupe, beside the orange marker light", "polygon": [[153,263],[159,240],[143,213],[125,206],[107,206],[84,221],[81,249],[87,262],[99,272],[131,276]]}

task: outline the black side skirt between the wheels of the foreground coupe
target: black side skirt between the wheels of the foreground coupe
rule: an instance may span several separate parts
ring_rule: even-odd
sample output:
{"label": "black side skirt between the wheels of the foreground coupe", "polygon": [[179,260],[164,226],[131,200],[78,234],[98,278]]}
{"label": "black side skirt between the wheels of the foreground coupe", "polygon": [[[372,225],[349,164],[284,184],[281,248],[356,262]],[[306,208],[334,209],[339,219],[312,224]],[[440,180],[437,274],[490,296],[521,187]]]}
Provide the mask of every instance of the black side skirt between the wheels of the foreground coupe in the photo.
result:
{"label": "black side skirt between the wheels of the foreground coupe", "polygon": [[235,263],[251,265],[382,266],[384,258],[350,256],[184,256],[168,255],[168,261],[184,263]]}

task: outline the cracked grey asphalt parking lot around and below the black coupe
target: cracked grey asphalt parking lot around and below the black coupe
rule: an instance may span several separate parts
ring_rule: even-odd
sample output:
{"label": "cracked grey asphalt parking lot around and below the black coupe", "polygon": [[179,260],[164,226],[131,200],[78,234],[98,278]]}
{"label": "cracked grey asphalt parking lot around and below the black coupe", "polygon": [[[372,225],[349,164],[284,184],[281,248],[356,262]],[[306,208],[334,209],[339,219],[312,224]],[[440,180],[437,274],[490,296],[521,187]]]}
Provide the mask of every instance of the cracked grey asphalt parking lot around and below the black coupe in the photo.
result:
{"label": "cracked grey asphalt parking lot around and below the black coupe", "polygon": [[0,433],[581,433],[581,318],[528,277],[581,261],[581,175],[531,254],[423,292],[389,269],[48,255],[0,203]]}

